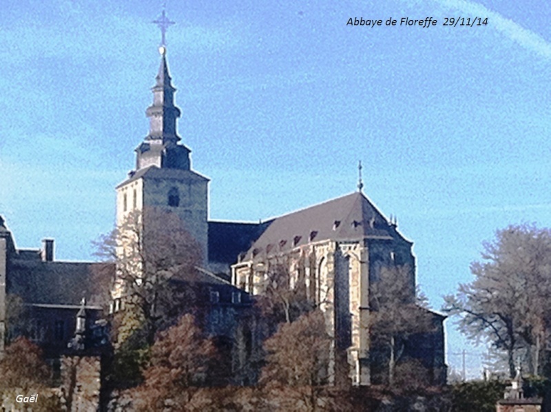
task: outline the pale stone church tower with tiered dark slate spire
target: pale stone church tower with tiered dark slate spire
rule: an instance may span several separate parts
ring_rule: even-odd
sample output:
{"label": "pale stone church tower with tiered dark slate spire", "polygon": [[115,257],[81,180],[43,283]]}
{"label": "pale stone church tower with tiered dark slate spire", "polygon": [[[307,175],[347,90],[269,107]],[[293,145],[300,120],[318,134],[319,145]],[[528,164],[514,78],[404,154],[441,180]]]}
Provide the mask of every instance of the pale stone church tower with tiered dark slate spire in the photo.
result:
{"label": "pale stone church tower with tiered dark slate spire", "polygon": [[145,112],[149,118],[149,134],[136,148],[136,169],[116,187],[117,225],[129,214],[140,214],[145,208],[174,212],[200,245],[206,263],[209,179],[191,170],[191,151],[180,143],[176,130],[180,109],[174,104],[176,89],[171,83],[164,44],[159,51],[160,65],[152,87],[153,104]]}

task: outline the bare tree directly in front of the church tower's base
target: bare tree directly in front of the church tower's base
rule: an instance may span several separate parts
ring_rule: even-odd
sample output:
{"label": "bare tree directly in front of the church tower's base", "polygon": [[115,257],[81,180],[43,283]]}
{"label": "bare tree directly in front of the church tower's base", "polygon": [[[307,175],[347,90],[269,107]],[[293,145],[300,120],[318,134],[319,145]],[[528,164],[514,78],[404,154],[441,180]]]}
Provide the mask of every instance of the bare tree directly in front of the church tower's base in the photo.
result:
{"label": "bare tree directly in front of the church tower's base", "polygon": [[129,213],[96,245],[115,263],[114,293],[133,315],[125,315],[127,325],[140,325],[153,344],[156,331],[193,301],[185,281],[195,276],[200,247],[176,214],[154,208]]}

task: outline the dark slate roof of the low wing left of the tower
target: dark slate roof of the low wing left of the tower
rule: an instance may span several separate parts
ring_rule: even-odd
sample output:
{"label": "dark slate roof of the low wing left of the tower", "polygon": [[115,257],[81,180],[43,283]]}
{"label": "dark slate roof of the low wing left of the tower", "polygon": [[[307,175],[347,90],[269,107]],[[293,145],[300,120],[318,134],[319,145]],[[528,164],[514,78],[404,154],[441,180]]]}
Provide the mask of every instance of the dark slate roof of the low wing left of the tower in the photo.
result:
{"label": "dark slate roof of the low wing left of the tower", "polygon": [[89,262],[43,262],[13,259],[6,289],[25,303],[79,305],[91,298],[92,268]]}

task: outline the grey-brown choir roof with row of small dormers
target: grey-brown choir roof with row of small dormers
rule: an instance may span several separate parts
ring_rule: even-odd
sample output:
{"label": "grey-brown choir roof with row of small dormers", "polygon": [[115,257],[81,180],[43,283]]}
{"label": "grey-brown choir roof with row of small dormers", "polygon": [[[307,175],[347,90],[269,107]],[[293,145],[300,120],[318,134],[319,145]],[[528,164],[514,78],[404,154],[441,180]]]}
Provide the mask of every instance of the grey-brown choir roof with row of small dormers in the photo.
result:
{"label": "grey-brown choir roof with row of small dormers", "polygon": [[247,251],[277,253],[320,240],[393,240],[400,235],[364,194],[355,192],[275,218]]}

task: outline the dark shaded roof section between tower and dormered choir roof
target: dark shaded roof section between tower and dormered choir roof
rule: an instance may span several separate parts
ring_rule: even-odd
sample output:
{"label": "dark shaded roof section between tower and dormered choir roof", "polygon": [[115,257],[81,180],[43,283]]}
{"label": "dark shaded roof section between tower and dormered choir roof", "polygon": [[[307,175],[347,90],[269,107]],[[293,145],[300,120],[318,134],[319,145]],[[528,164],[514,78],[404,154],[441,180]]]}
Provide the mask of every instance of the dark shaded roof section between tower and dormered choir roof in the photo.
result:
{"label": "dark shaded roof section between tower and dormered choir roof", "polygon": [[209,222],[209,261],[235,263],[272,222]]}

